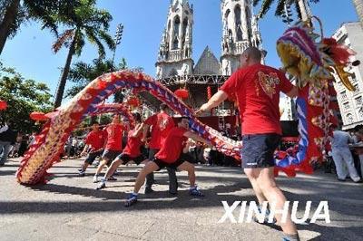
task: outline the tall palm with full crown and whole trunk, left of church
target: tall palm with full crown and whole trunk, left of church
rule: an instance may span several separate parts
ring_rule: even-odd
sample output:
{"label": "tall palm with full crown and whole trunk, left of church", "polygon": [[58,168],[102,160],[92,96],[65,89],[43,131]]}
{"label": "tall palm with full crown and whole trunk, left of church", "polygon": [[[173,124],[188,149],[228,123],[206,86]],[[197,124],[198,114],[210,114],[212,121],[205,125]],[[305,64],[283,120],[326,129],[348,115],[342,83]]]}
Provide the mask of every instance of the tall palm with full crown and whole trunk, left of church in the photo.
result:
{"label": "tall palm with full crown and whole trunk, left of church", "polygon": [[85,39],[97,46],[99,59],[103,59],[105,55],[102,41],[112,50],[115,46],[113,37],[107,33],[109,23],[113,19],[111,14],[105,10],[97,9],[95,0],[79,0],[79,2],[80,5],[75,6],[69,13],[54,16],[54,23],[70,27],[57,38],[53,45],[54,53],[57,53],[63,46],[69,47],[61,79],[58,83],[54,108],[61,105],[72,58],[74,54],[81,55]]}

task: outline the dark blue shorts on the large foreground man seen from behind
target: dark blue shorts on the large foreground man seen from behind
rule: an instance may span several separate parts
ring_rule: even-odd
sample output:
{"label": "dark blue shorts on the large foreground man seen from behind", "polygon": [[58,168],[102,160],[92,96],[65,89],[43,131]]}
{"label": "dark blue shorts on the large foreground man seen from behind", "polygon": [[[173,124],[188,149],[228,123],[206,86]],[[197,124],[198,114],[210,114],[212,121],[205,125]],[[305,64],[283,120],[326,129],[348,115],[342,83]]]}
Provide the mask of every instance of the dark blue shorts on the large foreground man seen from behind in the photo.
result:
{"label": "dark blue shorts on the large foreground man seen from behind", "polygon": [[255,134],[242,137],[242,168],[262,169],[275,166],[273,153],[281,140],[279,134]]}

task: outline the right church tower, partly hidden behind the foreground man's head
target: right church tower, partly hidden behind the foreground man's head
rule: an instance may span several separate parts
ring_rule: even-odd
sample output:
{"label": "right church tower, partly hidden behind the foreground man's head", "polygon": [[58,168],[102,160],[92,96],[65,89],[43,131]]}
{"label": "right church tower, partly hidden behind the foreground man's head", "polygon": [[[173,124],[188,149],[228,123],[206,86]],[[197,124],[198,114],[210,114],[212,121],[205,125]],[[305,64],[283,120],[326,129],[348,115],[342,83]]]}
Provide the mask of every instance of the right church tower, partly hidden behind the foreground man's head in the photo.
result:
{"label": "right church tower, partly hidden behind the foreground man's head", "polygon": [[261,48],[257,18],[250,0],[221,0],[221,72],[231,75],[240,65],[240,54],[249,46]]}

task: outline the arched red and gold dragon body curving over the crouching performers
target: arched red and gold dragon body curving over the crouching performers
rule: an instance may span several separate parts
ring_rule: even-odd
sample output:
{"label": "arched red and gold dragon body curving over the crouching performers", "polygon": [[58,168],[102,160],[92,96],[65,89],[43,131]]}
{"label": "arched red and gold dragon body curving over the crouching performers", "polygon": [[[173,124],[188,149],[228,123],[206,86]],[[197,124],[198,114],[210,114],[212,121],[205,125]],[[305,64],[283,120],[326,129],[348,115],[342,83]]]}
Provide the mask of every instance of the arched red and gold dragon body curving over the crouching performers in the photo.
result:
{"label": "arched red and gold dragon body curving over the crouching performers", "polygon": [[17,180],[29,185],[44,182],[47,176],[46,170],[59,161],[65,141],[86,116],[120,111],[121,107],[103,105],[101,108],[99,103],[122,88],[133,89],[136,92],[151,92],[154,97],[168,104],[172,110],[190,117],[191,129],[205,139],[211,140],[218,150],[240,159],[240,142],[223,137],[219,131],[202,124],[193,116],[191,109],[169,89],[141,72],[121,71],[103,74],[86,86],[68,104],[47,114],[50,119],[44,124],[44,129],[36,137],[34,145],[25,153],[25,158],[16,172]]}

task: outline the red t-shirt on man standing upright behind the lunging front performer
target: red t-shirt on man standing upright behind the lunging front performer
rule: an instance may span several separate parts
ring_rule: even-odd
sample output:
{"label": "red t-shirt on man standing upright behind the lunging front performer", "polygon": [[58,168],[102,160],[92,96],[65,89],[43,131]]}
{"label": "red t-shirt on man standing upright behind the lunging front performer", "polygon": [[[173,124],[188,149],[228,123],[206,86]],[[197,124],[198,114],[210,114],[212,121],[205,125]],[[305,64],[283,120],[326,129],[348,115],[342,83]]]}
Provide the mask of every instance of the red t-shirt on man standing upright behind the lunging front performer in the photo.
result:
{"label": "red t-shirt on man standing upright behind the lunging front performer", "polygon": [[144,121],[145,124],[152,126],[152,140],[150,149],[161,149],[169,131],[174,127],[174,120],[166,113],[152,115]]}

